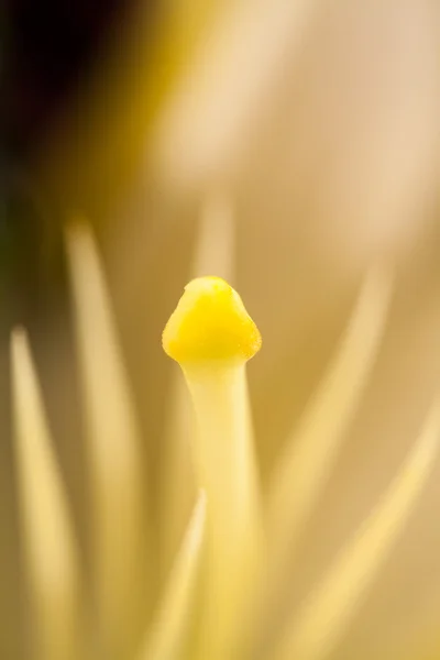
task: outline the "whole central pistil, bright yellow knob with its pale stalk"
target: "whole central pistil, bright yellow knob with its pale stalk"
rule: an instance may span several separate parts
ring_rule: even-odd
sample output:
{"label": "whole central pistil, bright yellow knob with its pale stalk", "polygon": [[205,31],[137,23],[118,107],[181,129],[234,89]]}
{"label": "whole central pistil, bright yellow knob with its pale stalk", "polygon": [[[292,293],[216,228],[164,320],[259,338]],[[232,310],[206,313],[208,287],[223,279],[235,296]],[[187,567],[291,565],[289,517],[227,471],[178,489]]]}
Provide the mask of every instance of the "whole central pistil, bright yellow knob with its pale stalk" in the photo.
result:
{"label": "whole central pistil, bright yellow knob with its pale stalk", "polygon": [[261,510],[251,439],[245,362],[261,337],[240,296],[222,279],[185,289],[163,334],[188,384],[198,425],[193,453],[208,502],[207,588],[199,658],[240,657],[238,636],[261,561]]}

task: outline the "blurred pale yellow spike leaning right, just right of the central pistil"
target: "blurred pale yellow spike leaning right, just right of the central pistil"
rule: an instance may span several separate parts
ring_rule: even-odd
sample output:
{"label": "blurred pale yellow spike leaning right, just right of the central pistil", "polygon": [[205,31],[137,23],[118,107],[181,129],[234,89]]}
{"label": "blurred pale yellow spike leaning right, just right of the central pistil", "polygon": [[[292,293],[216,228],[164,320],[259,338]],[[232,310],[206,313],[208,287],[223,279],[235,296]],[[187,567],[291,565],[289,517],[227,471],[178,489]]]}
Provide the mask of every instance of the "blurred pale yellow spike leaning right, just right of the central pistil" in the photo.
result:
{"label": "blurred pale yellow spike leaning right, just right of the central pistil", "polygon": [[362,399],[384,333],[391,294],[391,278],[372,270],[328,373],[274,471],[268,526],[274,541],[271,565],[276,575],[271,575],[271,583],[275,591]]}

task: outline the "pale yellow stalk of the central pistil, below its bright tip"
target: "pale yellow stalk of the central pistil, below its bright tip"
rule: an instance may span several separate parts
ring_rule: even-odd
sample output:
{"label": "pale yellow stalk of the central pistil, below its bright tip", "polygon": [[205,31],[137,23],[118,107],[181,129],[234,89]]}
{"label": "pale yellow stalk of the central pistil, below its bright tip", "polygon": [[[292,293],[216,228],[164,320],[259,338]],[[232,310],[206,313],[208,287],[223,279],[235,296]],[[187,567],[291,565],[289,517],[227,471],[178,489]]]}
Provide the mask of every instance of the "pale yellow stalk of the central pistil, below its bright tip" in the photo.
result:
{"label": "pale yellow stalk of the central pistil, below its bright tip", "polygon": [[245,365],[186,365],[184,373],[198,426],[196,473],[209,497],[209,600],[200,658],[208,650],[212,660],[231,658],[240,651],[234,647],[237,627],[243,627],[262,547]]}

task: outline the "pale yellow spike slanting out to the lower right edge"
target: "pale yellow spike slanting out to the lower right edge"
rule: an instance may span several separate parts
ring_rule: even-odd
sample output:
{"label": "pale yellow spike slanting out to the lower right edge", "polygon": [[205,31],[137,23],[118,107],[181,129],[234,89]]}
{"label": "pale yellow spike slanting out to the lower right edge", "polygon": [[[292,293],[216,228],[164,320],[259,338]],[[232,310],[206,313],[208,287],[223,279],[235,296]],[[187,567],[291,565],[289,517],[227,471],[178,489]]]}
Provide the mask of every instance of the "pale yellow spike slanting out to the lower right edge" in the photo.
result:
{"label": "pale yellow spike slanting out to the lower right edge", "polygon": [[334,649],[376,578],[427,484],[440,441],[436,402],[382,502],[286,628],[274,660],[323,660]]}

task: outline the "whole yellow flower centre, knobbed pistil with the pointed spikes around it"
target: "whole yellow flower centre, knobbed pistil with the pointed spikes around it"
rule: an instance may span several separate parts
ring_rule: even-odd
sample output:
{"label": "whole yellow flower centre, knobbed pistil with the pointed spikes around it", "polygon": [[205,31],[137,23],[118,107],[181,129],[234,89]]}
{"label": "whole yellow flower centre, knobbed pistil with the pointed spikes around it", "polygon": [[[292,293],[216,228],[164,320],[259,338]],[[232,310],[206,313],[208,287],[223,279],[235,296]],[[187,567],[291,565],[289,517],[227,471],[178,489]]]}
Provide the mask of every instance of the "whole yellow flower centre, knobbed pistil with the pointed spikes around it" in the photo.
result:
{"label": "whole yellow flower centre, knobbed pistil with the pointed spikes around it", "polygon": [[[377,268],[366,274],[339,349],[286,439],[267,488],[261,484],[246,384],[260,332],[224,279],[204,276],[187,285],[163,346],[180,364],[193,399],[196,424],[182,470],[191,464],[196,495],[156,588],[158,527],[148,518],[142,432],[106,278],[87,226],[76,224],[66,235],[90,480],[91,569],[88,581],[37,370],[25,330],[15,329],[15,466],[34,629],[28,657],[341,657],[333,653],[343,652],[352,623],[417,510],[439,451],[435,397],[377,501],[295,603],[290,560],[371,376],[388,317],[391,276]],[[169,414],[178,419],[176,410]],[[173,483],[165,485],[173,492]],[[166,528],[168,520],[161,524]],[[297,558],[295,571],[301,571]],[[397,648],[393,657],[405,658],[403,651]]]}

